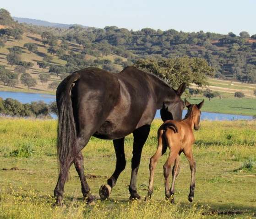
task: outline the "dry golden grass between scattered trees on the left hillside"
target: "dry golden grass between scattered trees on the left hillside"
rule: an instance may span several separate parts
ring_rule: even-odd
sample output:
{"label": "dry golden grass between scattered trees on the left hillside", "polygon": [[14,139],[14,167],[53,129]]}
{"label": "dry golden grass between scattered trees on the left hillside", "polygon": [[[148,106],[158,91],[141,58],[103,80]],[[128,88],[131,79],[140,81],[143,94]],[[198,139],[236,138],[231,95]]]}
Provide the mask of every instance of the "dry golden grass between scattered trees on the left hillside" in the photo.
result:
{"label": "dry golden grass between scattered trees on the left hillside", "polygon": [[[0,27],[0,28],[5,28],[4,26]],[[37,53],[29,53],[29,51],[23,47],[23,45],[25,43],[36,43],[38,45],[38,52]],[[58,41],[58,43],[60,44],[60,41]],[[9,53],[8,48],[12,48],[14,46],[18,46],[22,48],[22,61],[26,61],[26,62],[32,62],[33,63],[33,67],[28,69],[26,72],[30,73],[33,78],[35,78],[37,80],[37,85],[36,87],[32,87],[30,89],[28,89],[27,87],[24,87],[21,83],[19,83],[18,85],[16,85],[14,88],[10,87],[10,86],[5,86],[2,83],[0,84],[0,90],[1,91],[16,91],[16,92],[35,92],[35,93],[46,93],[46,94],[55,94],[55,92],[53,90],[49,90],[48,89],[48,85],[53,82],[53,81],[58,81],[60,82],[60,76],[56,76],[53,73],[49,73],[49,67],[46,69],[40,69],[37,65],[38,61],[43,61],[43,58],[46,54],[49,55],[49,53],[47,53],[47,49],[49,47],[44,46],[41,43],[41,36],[38,34],[33,34],[30,32],[25,32],[22,35],[22,39],[17,41],[14,40],[13,38],[9,38],[7,40],[7,43],[5,43],[5,47],[4,48],[0,48],[0,65],[4,65],[6,69],[10,69],[11,71],[14,71],[15,65],[13,65],[11,67],[10,64],[7,64],[7,60],[6,60],[6,55]],[[69,43],[69,47],[70,47],[70,51],[73,51],[74,53],[81,53],[82,52],[82,46],[79,46],[76,43]],[[54,65],[62,65],[64,66],[66,64],[66,61],[59,59],[56,55],[52,55],[53,59],[49,62],[49,64],[54,64]],[[117,58],[118,56],[113,56],[113,55],[108,55],[108,56],[103,56],[103,57],[99,57],[99,59],[109,59],[114,63],[114,58]],[[95,57],[91,57],[89,55],[85,55],[86,59],[96,59]],[[125,58],[122,58],[125,60]],[[115,65],[117,68],[120,69],[120,71],[122,70],[120,65]],[[40,80],[38,79],[38,76],[40,74],[49,74],[51,77],[51,80],[49,80],[47,83],[41,83]]]}

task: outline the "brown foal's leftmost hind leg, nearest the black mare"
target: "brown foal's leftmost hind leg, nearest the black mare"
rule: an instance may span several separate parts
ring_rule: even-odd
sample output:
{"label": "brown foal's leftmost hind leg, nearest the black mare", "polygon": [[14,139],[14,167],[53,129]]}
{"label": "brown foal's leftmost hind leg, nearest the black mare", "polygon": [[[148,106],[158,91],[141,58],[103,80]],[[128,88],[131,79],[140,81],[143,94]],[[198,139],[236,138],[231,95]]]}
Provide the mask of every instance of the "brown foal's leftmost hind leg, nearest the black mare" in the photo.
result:
{"label": "brown foal's leftmost hind leg, nearest the black mare", "polygon": [[150,158],[150,163],[149,163],[149,184],[147,188],[147,196],[145,198],[145,201],[147,199],[151,198],[151,195],[153,194],[153,181],[154,181],[154,172],[156,169],[156,166],[158,164],[158,160],[166,152],[167,145],[165,144],[165,141],[163,139],[163,129],[158,130],[158,149],[156,153]]}

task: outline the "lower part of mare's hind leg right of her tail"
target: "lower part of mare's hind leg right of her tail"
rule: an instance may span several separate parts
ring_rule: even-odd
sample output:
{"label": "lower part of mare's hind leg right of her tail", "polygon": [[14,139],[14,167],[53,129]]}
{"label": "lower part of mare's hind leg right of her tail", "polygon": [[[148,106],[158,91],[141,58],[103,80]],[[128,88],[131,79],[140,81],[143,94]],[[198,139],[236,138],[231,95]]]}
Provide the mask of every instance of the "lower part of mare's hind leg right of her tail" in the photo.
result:
{"label": "lower part of mare's hind leg right of her tail", "polygon": [[80,178],[81,186],[82,186],[82,194],[86,203],[93,205],[95,204],[92,194],[90,193],[90,187],[87,184],[85,175],[84,175],[84,163],[83,163],[83,155],[82,151],[80,151],[75,158],[74,162],[76,171]]}

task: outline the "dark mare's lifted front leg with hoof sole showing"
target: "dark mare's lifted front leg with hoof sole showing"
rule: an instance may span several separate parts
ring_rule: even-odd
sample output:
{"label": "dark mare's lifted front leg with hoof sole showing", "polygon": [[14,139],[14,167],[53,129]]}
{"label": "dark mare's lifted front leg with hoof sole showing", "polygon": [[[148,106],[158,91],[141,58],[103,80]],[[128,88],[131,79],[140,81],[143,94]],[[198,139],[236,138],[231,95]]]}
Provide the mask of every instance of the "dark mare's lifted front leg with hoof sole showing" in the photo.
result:
{"label": "dark mare's lifted front leg with hoof sole showing", "polygon": [[108,179],[106,185],[102,185],[99,189],[100,198],[109,198],[112,188],[115,186],[120,173],[125,169],[125,138],[113,140],[116,155],[116,165],[113,175]]}

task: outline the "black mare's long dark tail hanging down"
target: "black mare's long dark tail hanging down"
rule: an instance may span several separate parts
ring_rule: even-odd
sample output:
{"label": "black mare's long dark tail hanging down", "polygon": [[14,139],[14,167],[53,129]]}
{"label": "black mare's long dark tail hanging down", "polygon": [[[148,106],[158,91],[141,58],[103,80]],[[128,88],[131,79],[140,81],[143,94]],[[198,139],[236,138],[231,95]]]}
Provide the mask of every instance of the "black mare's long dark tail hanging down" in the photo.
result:
{"label": "black mare's long dark tail hanging down", "polygon": [[71,88],[80,75],[70,75],[57,88],[59,111],[57,153],[61,180],[67,179],[71,158],[76,155],[76,123],[71,101]]}

